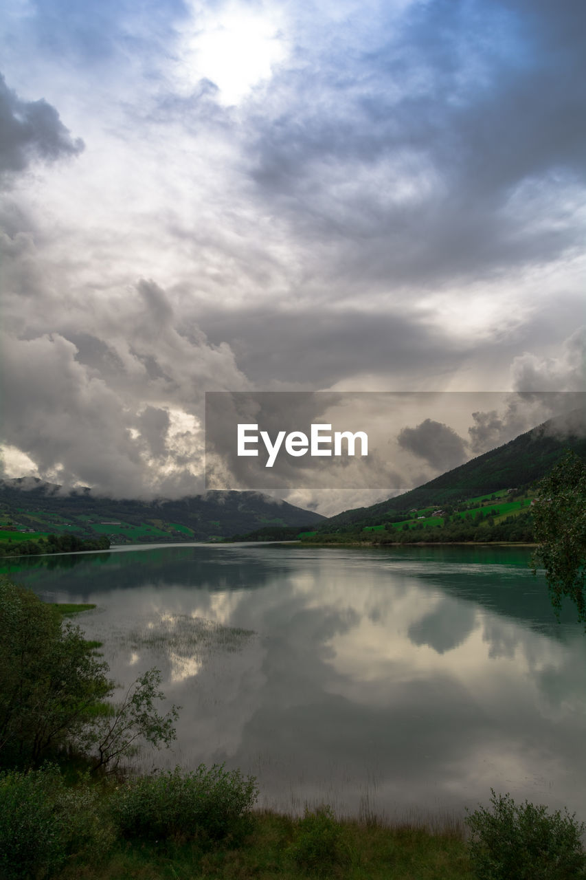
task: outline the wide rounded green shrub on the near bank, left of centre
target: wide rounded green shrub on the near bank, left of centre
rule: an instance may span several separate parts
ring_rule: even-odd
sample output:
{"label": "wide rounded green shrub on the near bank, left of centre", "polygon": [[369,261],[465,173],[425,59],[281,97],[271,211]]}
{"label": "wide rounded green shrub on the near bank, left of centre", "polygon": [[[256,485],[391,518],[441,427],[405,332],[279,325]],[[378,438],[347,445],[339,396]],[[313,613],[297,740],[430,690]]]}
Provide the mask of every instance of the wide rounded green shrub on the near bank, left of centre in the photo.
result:
{"label": "wide rounded green shrub on the near bank, left of centre", "polygon": [[253,776],[201,764],[194,773],[175,767],[133,777],[114,791],[110,809],[128,839],[222,840],[245,830],[257,796]]}

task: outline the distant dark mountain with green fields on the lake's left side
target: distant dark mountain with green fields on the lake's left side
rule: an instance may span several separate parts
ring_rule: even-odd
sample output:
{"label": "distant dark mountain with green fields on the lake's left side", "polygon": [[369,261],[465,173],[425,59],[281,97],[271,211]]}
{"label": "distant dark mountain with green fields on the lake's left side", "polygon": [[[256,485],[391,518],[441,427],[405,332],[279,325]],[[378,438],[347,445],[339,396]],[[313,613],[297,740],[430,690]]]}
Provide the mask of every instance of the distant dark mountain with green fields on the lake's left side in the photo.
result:
{"label": "distant dark mountain with green fields on the lake's left side", "polygon": [[[319,513],[257,492],[207,492],[178,501],[101,498],[90,489],[61,494],[30,478],[0,480],[0,521],[36,532],[107,534],[119,543],[209,540],[267,525],[314,526]],[[4,527],[7,527],[4,525]]]}

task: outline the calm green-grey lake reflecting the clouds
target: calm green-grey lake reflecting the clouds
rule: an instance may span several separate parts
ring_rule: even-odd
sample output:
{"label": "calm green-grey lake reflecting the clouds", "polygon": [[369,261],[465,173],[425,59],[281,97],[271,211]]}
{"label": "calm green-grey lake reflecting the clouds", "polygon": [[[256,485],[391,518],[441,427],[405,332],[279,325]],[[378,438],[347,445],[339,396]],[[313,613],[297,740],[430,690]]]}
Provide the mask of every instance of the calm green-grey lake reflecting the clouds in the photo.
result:
{"label": "calm green-grey lake reflecting the clouds", "polygon": [[438,821],[490,788],[586,819],[586,634],[531,550],[181,545],[2,570],[77,615],[123,686],[182,709],[139,764],[225,761],[260,805]]}

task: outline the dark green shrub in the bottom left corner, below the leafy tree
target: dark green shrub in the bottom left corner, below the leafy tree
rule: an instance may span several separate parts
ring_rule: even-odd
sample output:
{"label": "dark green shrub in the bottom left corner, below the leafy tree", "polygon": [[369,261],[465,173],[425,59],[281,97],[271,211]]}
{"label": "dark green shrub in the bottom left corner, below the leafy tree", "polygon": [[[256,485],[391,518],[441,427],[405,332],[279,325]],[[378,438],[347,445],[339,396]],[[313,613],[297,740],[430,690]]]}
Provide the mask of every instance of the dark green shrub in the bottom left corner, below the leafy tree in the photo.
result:
{"label": "dark green shrub in the bottom left corner, below the leafy tree", "polygon": [[98,796],[87,782],[67,788],[55,765],[0,774],[0,877],[50,877],[64,862],[106,854],[114,836]]}

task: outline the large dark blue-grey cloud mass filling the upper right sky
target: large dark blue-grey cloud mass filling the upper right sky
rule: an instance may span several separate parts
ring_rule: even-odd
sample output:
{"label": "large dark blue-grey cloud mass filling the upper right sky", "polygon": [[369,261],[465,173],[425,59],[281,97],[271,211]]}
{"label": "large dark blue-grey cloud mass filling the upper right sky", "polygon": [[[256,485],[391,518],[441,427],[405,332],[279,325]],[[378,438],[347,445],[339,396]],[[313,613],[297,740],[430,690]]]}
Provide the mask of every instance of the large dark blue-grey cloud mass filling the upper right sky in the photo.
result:
{"label": "large dark blue-grey cloud mass filling the upper right sky", "polygon": [[339,274],[381,284],[579,246],[554,194],[586,172],[583,6],[414,4],[377,24],[369,53],[332,42],[304,58],[311,83],[276,77],[287,109],[254,120],[253,179],[297,235],[338,241]]}

